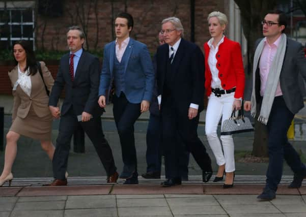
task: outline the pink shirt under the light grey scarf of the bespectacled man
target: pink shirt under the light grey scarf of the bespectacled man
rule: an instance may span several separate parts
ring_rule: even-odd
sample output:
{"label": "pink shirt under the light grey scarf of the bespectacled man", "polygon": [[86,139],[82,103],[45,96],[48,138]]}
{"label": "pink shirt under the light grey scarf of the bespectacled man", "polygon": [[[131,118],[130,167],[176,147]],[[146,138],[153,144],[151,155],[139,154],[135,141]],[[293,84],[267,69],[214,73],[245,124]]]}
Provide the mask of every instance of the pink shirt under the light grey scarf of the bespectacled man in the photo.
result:
{"label": "pink shirt under the light grey scarf of the bespectacled man", "polygon": [[[269,43],[267,42],[267,38],[264,38],[265,45],[264,45],[264,49],[262,50],[260,61],[259,61],[259,72],[260,72],[260,81],[261,81],[260,95],[261,96],[264,96],[269,70],[270,70],[270,67],[272,66],[272,61],[276,54],[277,47],[280,44],[280,40],[281,40],[281,37],[279,37],[272,45],[269,45]],[[282,96],[282,95],[283,93],[282,93],[280,81],[279,81],[279,84],[277,84],[275,97]]]}

